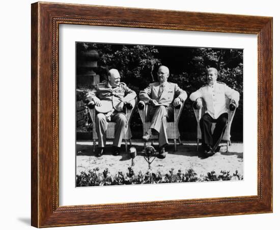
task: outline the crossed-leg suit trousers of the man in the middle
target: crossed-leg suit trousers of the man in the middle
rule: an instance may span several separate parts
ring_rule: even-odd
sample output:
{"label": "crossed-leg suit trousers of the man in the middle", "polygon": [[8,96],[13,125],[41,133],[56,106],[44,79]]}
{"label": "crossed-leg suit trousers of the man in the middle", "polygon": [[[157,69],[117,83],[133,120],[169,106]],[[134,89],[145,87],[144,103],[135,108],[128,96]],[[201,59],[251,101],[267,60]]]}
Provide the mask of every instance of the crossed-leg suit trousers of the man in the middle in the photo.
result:
{"label": "crossed-leg suit trousers of the man in the middle", "polygon": [[171,120],[174,116],[172,105],[169,106],[154,106],[149,111],[149,116],[152,118],[150,129],[158,132],[159,147],[168,145],[167,138],[167,120]]}

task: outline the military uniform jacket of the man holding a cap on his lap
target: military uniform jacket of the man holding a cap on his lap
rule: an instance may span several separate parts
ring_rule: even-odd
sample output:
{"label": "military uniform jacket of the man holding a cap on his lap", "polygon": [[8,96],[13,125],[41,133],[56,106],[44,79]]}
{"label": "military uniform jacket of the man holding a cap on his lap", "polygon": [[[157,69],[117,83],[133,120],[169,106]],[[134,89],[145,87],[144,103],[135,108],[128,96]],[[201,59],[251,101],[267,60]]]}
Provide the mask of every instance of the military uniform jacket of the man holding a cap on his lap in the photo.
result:
{"label": "military uniform jacket of the man holding a cap on his lap", "polygon": [[86,95],[86,102],[91,101],[94,97],[100,100],[111,101],[113,108],[116,109],[116,106],[120,102],[126,104],[133,100],[136,97],[136,93],[130,90],[123,82],[115,88],[111,87],[109,82],[102,82],[97,84],[95,88]]}

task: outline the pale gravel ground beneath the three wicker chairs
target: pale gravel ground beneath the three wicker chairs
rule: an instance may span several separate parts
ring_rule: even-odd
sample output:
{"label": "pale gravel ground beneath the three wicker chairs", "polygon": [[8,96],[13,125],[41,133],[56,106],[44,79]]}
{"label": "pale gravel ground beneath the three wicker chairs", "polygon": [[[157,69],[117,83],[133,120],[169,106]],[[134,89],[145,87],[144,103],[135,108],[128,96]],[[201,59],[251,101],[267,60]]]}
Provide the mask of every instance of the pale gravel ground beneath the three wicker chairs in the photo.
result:
{"label": "pale gravel ground beneath the three wicker chairs", "polygon": [[[112,142],[107,141],[106,153],[101,157],[95,157],[92,153],[92,141],[77,141],[77,157],[76,157],[76,173],[81,171],[87,172],[90,169],[99,167],[100,172],[108,168],[111,175],[115,175],[118,171],[127,172],[131,166],[131,158],[125,153],[125,147],[122,145],[122,153],[120,156],[111,155]],[[238,170],[243,175],[243,143],[232,143],[229,152],[226,152],[226,143],[221,143],[220,152],[215,153],[212,157],[205,158],[201,151],[196,150],[196,144],[193,142],[184,142],[178,145],[177,152],[174,152],[174,146],[171,144],[165,149],[165,159],[155,160],[151,164],[153,171],[168,172],[171,168],[175,171],[181,169],[182,172],[192,168],[197,175],[207,175],[207,172],[214,170],[219,174],[221,170],[230,171],[232,175]],[[132,146],[137,149],[137,156],[134,159],[134,172],[146,172],[148,163],[143,157],[143,142],[141,140],[133,140]],[[157,143],[155,148],[157,150]]]}

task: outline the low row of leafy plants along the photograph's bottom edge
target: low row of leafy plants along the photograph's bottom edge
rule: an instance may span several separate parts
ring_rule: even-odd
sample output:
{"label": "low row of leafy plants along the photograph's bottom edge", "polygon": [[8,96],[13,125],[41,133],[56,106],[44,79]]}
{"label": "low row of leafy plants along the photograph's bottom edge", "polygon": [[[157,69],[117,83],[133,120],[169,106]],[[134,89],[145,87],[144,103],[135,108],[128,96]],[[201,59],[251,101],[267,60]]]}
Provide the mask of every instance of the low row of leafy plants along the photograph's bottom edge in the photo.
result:
{"label": "low row of leafy plants along the photograph's bottom edge", "polygon": [[131,185],[131,184],[161,184],[161,183],[182,183],[182,182],[199,182],[199,181],[229,181],[243,180],[243,176],[238,171],[230,175],[229,171],[222,170],[220,175],[216,176],[215,171],[208,172],[207,176],[197,176],[193,169],[178,172],[172,168],[169,173],[162,175],[162,172],[151,170],[143,173],[139,171],[135,174],[132,167],[128,167],[128,172],[119,171],[116,175],[110,175],[108,168],[99,172],[96,167],[88,172],[82,171],[76,176],[76,186],[106,186],[106,185]]}

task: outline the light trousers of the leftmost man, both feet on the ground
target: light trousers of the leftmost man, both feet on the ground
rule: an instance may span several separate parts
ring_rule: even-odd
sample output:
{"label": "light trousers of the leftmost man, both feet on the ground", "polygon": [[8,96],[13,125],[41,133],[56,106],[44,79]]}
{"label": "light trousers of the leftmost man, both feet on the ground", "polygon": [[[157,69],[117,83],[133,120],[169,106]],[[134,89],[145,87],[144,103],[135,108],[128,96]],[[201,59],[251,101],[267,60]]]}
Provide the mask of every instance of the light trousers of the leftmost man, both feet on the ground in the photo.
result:
{"label": "light trousers of the leftmost man, both feet on the ground", "polygon": [[104,113],[97,113],[95,116],[95,127],[98,136],[98,147],[105,147],[106,145],[106,130],[108,127],[108,122],[115,122],[115,139],[113,141],[113,146],[121,147],[123,134],[127,129],[127,119],[124,113],[117,112],[111,114],[108,118]]}

